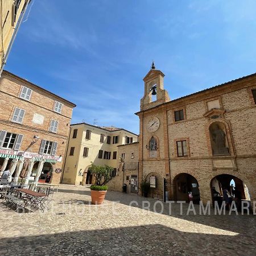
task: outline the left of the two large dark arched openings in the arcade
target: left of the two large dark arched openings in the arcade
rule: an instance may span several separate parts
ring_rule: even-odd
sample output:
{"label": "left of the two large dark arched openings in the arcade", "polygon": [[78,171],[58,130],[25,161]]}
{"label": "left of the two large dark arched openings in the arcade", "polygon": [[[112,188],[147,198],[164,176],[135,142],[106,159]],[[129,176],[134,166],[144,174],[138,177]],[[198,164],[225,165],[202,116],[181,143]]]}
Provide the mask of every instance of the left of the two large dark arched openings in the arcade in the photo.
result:
{"label": "left of the two large dark arched openings in the arcade", "polygon": [[192,192],[193,202],[200,201],[200,183],[197,175],[193,172],[180,172],[172,179],[173,185],[173,199],[175,201],[188,201],[188,193]]}

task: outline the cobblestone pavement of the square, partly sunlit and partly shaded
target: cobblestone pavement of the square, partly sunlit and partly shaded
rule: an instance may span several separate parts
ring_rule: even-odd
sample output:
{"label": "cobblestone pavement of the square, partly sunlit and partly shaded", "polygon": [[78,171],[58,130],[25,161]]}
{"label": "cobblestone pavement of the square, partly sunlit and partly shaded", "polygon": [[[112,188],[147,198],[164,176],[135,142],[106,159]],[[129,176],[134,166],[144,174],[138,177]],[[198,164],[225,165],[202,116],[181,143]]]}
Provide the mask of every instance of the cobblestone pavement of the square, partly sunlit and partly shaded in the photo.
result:
{"label": "cobblestone pavement of the square, partly sunlit and partly shaded", "polygon": [[73,185],[61,185],[44,213],[1,203],[0,255],[256,255],[256,216],[203,216],[198,206],[187,216],[179,204],[170,216],[161,204],[108,191],[103,205],[90,205],[89,188]]}

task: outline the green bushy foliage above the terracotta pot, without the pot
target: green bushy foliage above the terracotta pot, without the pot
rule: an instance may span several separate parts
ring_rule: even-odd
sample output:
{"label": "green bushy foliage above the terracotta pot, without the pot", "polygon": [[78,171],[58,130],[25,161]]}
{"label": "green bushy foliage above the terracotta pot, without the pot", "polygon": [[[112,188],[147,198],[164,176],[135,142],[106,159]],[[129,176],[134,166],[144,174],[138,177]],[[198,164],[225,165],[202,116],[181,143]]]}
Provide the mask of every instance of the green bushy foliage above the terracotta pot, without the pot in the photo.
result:
{"label": "green bushy foliage above the terracotta pot, without the pot", "polygon": [[90,173],[96,178],[96,185],[105,185],[112,179],[112,172],[114,168],[105,164],[105,166],[96,166],[92,164],[89,168]]}

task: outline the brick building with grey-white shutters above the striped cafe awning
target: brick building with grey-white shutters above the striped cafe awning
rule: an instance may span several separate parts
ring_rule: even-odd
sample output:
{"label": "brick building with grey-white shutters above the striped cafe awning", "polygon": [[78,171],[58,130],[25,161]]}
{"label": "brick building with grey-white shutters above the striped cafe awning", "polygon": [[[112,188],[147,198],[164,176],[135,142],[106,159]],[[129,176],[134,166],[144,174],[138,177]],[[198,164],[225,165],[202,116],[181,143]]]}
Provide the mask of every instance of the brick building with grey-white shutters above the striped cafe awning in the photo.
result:
{"label": "brick building with grey-white shutters above the striped cafe awning", "polygon": [[39,181],[45,181],[49,172],[51,183],[59,183],[61,174],[57,172],[76,105],[7,71],[0,79],[0,98],[1,172],[13,167],[15,176],[32,163],[28,180],[35,181],[40,171]]}

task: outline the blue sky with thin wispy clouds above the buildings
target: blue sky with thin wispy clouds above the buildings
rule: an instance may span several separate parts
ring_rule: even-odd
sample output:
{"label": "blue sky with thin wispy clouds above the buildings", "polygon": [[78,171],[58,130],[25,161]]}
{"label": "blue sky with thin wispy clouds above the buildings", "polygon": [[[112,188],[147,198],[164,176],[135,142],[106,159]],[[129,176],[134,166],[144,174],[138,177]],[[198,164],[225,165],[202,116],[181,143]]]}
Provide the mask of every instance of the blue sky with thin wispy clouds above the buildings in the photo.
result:
{"label": "blue sky with thin wispy clouds above the buildings", "polygon": [[256,72],[254,0],[35,0],[6,70],[77,104],[72,123],[139,132],[154,59],[171,99]]}

